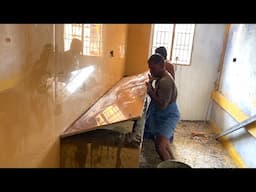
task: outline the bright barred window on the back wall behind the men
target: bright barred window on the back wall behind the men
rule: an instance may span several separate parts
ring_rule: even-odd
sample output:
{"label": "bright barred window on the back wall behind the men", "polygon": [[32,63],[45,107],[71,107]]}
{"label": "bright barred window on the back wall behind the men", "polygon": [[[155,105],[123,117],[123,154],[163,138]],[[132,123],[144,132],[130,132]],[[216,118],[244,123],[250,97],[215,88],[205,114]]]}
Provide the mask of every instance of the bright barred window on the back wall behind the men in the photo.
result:
{"label": "bright barred window on the back wall behind the men", "polygon": [[173,64],[190,65],[195,24],[154,24],[152,54],[159,46],[167,49]]}

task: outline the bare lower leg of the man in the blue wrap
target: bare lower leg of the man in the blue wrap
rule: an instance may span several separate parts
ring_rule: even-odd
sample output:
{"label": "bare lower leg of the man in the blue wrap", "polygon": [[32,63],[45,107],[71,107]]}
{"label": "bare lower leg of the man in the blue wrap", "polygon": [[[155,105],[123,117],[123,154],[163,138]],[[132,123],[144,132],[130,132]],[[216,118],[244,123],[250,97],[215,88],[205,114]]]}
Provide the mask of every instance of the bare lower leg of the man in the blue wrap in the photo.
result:
{"label": "bare lower leg of the man in the blue wrap", "polygon": [[155,147],[162,161],[173,159],[173,155],[171,153],[169,144],[170,144],[170,141],[168,138],[162,135],[156,136]]}

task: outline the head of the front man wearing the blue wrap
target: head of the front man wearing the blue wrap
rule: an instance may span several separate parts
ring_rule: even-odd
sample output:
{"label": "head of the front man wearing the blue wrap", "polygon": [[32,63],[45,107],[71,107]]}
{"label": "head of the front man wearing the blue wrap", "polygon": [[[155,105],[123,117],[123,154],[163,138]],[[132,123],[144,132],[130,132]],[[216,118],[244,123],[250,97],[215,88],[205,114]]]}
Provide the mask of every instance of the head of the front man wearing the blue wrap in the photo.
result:
{"label": "head of the front man wearing the blue wrap", "polygon": [[160,54],[153,54],[148,59],[148,67],[153,77],[161,77],[165,71],[164,58]]}

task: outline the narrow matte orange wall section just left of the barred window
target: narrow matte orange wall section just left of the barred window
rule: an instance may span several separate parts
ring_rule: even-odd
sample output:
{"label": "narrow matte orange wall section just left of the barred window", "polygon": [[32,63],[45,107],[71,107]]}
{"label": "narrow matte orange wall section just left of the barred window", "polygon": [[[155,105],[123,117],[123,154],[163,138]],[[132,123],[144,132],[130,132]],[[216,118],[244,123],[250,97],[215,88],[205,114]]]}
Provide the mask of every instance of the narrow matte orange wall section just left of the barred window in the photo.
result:
{"label": "narrow matte orange wall section just left of the barred window", "polygon": [[129,24],[125,75],[148,70],[147,60],[151,40],[151,24]]}

